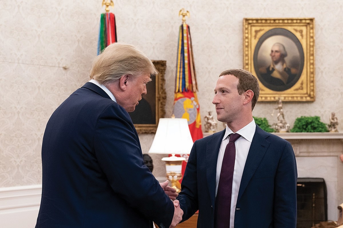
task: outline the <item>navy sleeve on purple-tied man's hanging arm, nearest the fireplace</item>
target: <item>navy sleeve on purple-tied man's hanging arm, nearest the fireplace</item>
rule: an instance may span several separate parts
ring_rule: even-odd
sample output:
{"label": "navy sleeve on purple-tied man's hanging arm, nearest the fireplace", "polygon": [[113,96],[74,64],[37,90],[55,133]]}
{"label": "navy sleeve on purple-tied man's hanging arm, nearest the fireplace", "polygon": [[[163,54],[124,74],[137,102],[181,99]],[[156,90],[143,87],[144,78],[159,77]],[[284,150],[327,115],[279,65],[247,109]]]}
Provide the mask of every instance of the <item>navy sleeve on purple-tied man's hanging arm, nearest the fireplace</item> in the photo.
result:
{"label": "navy sleeve on purple-tied man's hanging arm, nearest the fireplace", "polygon": [[274,227],[296,228],[297,166],[293,148],[286,143],[277,167],[274,184]]}

